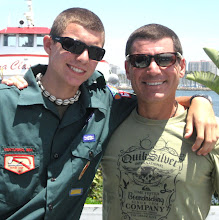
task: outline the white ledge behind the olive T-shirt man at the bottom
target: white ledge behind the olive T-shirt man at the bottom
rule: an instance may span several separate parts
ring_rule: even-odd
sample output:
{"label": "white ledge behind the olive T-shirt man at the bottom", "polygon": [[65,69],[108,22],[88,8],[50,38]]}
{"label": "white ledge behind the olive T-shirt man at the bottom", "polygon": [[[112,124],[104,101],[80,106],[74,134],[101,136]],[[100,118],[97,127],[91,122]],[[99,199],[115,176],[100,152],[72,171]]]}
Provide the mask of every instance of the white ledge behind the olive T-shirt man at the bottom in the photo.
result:
{"label": "white ledge behind the olive T-shirt man at the bottom", "polygon": [[[80,220],[101,220],[102,205],[85,205]],[[219,206],[211,206],[206,220],[219,219]],[[115,219],[116,220],[116,219]]]}

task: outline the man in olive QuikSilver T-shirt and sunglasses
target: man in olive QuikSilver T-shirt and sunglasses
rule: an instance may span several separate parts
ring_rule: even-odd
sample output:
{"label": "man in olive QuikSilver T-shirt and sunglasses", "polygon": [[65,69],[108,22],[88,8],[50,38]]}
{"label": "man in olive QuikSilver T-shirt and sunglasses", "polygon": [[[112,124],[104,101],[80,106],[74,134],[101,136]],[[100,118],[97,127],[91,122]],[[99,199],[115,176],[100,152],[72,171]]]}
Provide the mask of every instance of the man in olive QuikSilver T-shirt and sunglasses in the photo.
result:
{"label": "man in olive QuikSilver T-shirt and sunglasses", "polygon": [[219,143],[207,156],[184,138],[187,110],[176,101],[185,59],[169,28],[145,25],[126,44],[126,74],[138,99],[102,160],[103,219],[205,219],[219,192]]}

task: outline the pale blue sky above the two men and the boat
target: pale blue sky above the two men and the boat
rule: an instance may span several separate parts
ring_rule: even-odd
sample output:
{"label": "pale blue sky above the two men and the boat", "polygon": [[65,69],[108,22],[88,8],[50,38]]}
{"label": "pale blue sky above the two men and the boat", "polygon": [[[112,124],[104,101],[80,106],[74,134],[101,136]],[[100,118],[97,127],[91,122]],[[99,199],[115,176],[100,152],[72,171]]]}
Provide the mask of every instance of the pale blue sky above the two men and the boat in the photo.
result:
{"label": "pale blue sky above the two men and the boat", "polygon": [[[189,61],[209,60],[203,47],[219,50],[218,0],[32,0],[35,26],[51,27],[55,17],[70,7],[83,7],[96,13],[106,31],[106,59],[124,66],[125,43],[138,27],[159,23],[176,32],[184,56]],[[25,0],[0,2],[0,29],[17,26],[27,10]]]}

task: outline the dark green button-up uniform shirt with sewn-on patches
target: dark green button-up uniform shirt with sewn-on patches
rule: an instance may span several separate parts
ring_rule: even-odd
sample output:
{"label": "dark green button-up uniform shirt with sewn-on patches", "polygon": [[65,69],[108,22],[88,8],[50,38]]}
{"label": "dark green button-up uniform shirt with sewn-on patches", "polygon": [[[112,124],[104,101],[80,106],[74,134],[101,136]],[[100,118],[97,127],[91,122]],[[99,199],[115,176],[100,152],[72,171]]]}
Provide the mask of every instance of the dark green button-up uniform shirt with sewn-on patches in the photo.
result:
{"label": "dark green button-up uniform shirt with sewn-on patches", "polygon": [[0,219],[79,219],[108,135],[136,105],[95,72],[60,118],[35,80],[45,71],[21,91],[0,85]]}

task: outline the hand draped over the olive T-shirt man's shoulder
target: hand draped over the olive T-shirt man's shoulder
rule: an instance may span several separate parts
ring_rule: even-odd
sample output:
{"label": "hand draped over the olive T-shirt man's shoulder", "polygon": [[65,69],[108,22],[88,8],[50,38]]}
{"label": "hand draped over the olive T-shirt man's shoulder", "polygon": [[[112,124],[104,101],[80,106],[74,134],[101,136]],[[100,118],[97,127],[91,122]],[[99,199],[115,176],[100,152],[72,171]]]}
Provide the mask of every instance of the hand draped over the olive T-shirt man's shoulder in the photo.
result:
{"label": "hand draped over the olive T-shirt man's shoulder", "polygon": [[197,131],[197,137],[192,150],[198,150],[198,155],[207,155],[214,148],[219,138],[219,124],[212,105],[202,97],[196,97],[192,100],[187,116],[185,138],[192,135],[194,127]]}

